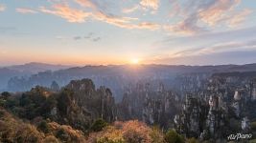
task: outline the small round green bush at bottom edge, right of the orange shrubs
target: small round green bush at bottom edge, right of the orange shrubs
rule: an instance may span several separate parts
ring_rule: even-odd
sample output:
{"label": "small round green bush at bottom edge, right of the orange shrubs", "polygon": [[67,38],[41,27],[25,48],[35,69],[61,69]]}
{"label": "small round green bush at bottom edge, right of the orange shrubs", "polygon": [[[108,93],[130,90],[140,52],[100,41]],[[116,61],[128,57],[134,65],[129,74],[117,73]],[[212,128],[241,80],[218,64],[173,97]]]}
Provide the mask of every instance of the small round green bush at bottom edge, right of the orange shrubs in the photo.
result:
{"label": "small round green bush at bottom edge, right of the orange shrubs", "polygon": [[165,133],[164,139],[167,143],[184,143],[184,138],[174,130]]}

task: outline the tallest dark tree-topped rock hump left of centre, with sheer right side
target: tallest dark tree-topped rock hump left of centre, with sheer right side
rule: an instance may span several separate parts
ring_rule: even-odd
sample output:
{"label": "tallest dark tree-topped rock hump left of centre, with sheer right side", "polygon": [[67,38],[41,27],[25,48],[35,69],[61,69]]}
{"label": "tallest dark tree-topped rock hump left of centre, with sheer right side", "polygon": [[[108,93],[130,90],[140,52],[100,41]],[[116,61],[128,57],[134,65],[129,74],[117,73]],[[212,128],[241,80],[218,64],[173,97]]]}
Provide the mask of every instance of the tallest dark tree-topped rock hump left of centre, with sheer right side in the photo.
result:
{"label": "tallest dark tree-topped rock hump left of centre, with sheer right side", "polygon": [[98,118],[112,122],[116,116],[111,91],[105,87],[95,89],[90,79],[71,81],[58,96],[58,104],[58,119],[75,127],[89,126]]}

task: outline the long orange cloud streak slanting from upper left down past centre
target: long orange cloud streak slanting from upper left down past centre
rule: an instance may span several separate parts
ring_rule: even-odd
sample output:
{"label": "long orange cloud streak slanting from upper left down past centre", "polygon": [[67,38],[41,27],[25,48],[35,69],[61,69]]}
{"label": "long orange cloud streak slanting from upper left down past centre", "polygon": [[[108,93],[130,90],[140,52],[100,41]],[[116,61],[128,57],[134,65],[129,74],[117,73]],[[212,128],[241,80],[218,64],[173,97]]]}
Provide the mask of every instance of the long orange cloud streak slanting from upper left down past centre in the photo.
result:
{"label": "long orange cloud streak slanting from upper left down past centre", "polygon": [[[83,4],[83,6],[86,6],[86,7],[92,6],[90,3],[87,3],[88,2],[87,0],[77,0],[77,2],[80,2],[81,4]],[[102,21],[120,28],[125,28],[125,29],[157,30],[160,28],[159,25],[149,23],[149,22],[135,23],[138,20],[138,18],[106,14],[101,10],[87,12],[83,10],[72,9],[67,4],[62,4],[62,5],[58,4],[58,5],[53,5],[52,7],[53,7],[52,10],[46,9],[44,7],[41,7],[40,10],[45,13],[50,13],[50,14],[60,16],[66,19],[68,22],[82,23],[82,22],[85,22],[85,19],[91,18],[94,20]]]}

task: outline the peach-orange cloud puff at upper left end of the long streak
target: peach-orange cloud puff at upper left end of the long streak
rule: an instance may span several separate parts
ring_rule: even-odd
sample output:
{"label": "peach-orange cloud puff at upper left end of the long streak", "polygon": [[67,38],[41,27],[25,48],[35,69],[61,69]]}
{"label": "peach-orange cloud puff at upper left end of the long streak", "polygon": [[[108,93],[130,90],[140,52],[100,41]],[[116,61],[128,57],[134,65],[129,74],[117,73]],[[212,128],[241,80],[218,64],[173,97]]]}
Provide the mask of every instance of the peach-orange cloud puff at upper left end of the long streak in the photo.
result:
{"label": "peach-orange cloud puff at upper left end of the long streak", "polygon": [[84,22],[85,19],[91,15],[90,12],[72,9],[67,4],[55,4],[53,5],[52,10],[46,9],[45,7],[40,7],[40,10],[45,13],[50,13],[50,14],[60,16],[71,23]]}

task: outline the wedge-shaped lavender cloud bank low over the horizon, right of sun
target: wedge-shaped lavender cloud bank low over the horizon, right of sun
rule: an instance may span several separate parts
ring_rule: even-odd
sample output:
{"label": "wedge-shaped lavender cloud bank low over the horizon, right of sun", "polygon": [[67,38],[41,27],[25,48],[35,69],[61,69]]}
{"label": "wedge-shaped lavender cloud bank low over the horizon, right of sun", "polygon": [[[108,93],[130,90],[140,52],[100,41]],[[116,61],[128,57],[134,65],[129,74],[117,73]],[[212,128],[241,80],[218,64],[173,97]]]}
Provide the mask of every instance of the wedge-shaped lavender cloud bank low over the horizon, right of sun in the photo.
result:
{"label": "wedge-shaped lavender cloud bank low over the horizon, right of sun", "polygon": [[158,54],[151,62],[175,65],[244,64],[256,60],[256,39],[226,41],[213,46],[190,47],[187,50]]}

